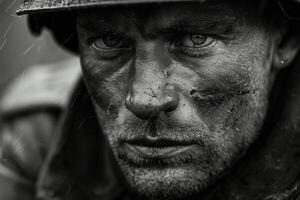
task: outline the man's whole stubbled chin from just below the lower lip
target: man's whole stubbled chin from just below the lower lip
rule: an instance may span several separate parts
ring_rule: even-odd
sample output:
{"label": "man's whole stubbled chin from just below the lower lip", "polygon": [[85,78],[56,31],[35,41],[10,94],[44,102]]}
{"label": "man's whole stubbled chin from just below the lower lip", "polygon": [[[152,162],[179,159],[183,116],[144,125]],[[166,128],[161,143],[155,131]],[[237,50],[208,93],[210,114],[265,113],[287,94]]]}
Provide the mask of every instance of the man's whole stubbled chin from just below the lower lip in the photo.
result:
{"label": "man's whole stubbled chin from just below the lower lip", "polygon": [[[120,149],[120,148],[119,148]],[[186,199],[216,183],[229,166],[227,158],[205,152],[160,161],[118,152],[117,161],[129,186],[140,199]]]}

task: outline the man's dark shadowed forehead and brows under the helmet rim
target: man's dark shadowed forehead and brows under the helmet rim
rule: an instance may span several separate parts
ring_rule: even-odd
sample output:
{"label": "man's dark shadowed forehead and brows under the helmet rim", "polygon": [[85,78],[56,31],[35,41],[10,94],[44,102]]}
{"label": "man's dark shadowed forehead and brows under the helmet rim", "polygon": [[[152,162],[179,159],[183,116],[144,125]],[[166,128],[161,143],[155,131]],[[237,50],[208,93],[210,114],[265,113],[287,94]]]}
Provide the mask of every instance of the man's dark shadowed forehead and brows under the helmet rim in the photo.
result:
{"label": "man's dark shadowed forehead and brows under the helmet rim", "polygon": [[155,37],[172,32],[172,28],[185,31],[178,29],[234,25],[238,18],[236,7],[227,1],[209,1],[97,9],[80,13],[79,24],[101,31],[108,28],[126,35],[138,31],[144,37]]}

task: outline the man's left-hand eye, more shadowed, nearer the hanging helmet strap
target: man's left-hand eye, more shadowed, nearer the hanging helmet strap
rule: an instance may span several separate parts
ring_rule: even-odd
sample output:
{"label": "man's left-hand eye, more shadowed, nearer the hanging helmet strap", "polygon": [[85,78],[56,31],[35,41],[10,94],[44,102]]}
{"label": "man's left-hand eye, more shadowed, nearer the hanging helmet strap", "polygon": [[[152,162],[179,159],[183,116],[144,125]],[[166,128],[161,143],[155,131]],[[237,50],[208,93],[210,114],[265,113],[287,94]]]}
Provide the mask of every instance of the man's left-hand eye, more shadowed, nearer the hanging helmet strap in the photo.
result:
{"label": "man's left-hand eye, more shadowed, nearer the hanging helmet strap", "polygon": [[102,38],[97,38],[93,42],[93,47],[96,50],[112,50],[118,48],[129,48],[130,42],[122,37],[115,34],[107,34]]}

